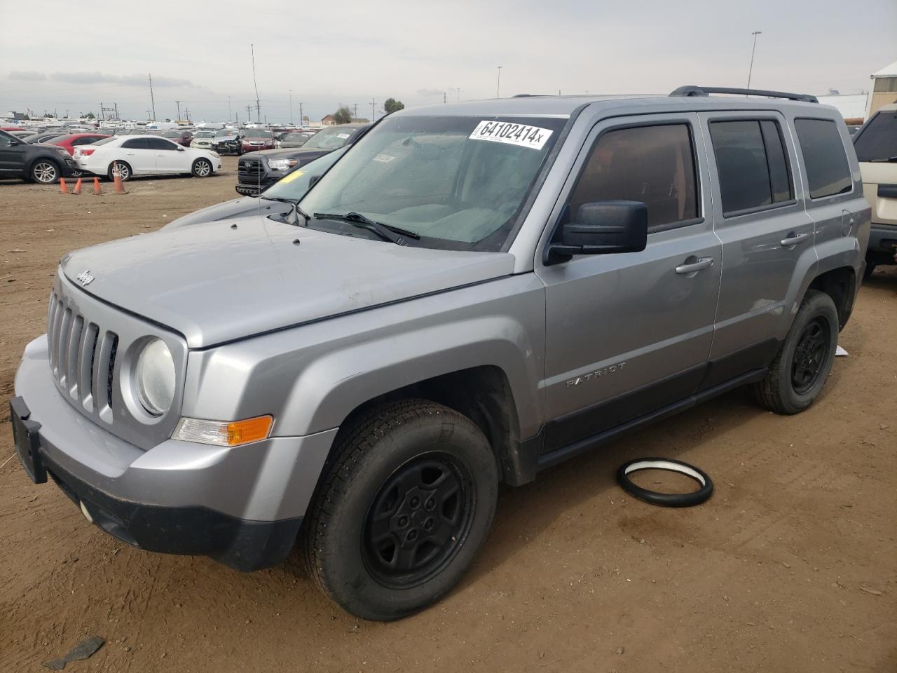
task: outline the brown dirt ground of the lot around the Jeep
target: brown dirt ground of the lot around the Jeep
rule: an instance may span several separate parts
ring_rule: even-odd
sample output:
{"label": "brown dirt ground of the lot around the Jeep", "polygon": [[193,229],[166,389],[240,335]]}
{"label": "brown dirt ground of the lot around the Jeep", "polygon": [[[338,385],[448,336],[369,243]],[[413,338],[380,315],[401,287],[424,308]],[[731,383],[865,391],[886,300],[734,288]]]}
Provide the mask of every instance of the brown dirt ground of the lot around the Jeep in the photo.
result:
{"label": "brown dirt ground of the lot around the Jeep", "polygon": [[[457,590],[394,624],[345,615],[295,555],[241,574],[145,553],[32,485],[7,461],[5,400],[57,260],[234,197],[225,168],[123,197],[0,183],[2,673],[44,670],[94,634],[106,644],[66,670],[897,671],[897,267],[863,287],[849,357],[806,413],[736,391],[505,491]],[[710,502],[623,494],[615,469],[645,455],[705,469]]]}

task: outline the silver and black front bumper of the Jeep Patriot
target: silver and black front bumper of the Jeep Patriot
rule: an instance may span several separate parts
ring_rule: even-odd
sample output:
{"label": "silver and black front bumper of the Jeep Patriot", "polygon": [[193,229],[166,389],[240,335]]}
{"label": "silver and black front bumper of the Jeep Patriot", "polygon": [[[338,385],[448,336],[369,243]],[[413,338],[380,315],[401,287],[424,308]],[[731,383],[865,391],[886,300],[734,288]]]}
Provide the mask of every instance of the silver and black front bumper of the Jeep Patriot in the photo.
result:
{"label": "silver and black front bumper of the Jeep Patriot", "polygon": [[334,431],[223,448],[168,440],[144,451],[79,414],[57,391],[47,339],[25,350],[11,404],[16,450],[127,544],[207,555],[241,571],[289,554]]}

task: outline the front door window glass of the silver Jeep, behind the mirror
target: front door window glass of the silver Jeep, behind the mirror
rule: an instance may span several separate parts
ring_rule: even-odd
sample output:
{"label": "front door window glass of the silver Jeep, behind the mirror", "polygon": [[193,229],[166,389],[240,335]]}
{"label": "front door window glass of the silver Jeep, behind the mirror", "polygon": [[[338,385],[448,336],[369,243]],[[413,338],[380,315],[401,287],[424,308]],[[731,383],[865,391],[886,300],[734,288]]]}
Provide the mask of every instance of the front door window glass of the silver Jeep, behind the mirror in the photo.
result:
{"label": "front door window glass of the silver Jeep, behind the mirror", "polygon": [[686,124],[619,128],[598,138],[570,194],[570,216],[580,205],[615,199],[647,205],[649,229],[698,216]]}

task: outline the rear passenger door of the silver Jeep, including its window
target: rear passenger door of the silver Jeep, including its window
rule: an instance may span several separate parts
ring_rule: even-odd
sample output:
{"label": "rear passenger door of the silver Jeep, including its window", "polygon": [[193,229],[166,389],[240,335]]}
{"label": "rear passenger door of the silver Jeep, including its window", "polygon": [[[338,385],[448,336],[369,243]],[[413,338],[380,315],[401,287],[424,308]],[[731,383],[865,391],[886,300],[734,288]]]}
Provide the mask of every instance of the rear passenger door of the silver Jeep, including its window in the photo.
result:
{"label": "rear passenger door of the silver Jeep, including its window", "polygon": [[[709,385],[765,367],[791,324],[791,288],[814,270],[814,222],[784,116],[704,112],[722,282]],[[789,293],[789,290],[791,292]]]}

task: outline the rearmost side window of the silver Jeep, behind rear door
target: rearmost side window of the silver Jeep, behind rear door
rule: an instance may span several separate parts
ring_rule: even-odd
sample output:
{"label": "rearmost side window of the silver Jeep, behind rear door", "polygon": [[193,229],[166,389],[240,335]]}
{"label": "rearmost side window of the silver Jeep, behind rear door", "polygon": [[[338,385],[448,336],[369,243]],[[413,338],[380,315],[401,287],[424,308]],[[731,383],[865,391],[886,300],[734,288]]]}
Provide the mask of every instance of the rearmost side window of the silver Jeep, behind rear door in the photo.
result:
{"label": "rearmost side window of the silver Jeep, behind rear door", "polygon": [[830,119],[795,119],[794,127],[804,155],[810,198],[849,192],[853,179],[837,125]]}

